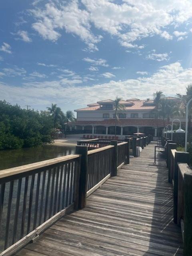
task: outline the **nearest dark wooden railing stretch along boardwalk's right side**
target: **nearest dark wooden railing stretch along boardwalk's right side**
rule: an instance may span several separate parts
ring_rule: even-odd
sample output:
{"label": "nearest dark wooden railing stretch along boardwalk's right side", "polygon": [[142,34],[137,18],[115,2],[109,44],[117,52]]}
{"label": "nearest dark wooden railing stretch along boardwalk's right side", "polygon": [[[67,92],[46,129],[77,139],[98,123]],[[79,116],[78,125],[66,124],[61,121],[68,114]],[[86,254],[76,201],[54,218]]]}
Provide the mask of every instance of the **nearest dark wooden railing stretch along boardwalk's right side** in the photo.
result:
{"label": "nearest dark wooden railing stretch along boardwalk's right side", "polygon": [[[170,140],[171,141],[171,140]],[[168,180],[173,184],[174,223],[181,226],[184,256],[192,255],[192,170],[189,153],[178,152],[176,144],[167,144]]]}

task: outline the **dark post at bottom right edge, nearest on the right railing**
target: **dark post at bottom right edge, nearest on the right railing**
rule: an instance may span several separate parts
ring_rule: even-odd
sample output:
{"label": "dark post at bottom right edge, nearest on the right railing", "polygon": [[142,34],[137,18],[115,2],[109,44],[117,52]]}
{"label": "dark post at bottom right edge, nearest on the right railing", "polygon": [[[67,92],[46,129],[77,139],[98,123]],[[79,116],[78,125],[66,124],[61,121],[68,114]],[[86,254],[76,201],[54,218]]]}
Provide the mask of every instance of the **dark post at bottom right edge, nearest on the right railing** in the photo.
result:
{"label": "dark post at bottom right edge, nearest on the right railing", "polygon": [[192,255],[192,173],[184,174],[184,256]]}

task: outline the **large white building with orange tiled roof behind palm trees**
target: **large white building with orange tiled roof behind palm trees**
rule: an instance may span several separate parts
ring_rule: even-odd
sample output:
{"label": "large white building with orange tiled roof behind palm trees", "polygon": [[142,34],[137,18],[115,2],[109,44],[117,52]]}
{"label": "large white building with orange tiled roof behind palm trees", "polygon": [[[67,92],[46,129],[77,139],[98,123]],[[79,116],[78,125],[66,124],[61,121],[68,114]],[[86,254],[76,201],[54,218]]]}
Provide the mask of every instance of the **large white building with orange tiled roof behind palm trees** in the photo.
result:
{"label": "large white building with orange tiled roof behind palm trees", "polygon": [[[177,103],[178,99],[168,97]],[[157,136],[164,128],[163,119],[155,118],[156,105],[154,100],[140,100],[132,98],[121,100],[123,109],[118,110],[118,120],[116,123],[116,134],[124,137],[136,132]],[[88,104],[86,108],[74,110],[77,112],[77,121],[70,124],[71,129],[82,133],[93,135],[114,135],[115,133],[115,110],[114,100],[102,100],[94,104]],[[184,118],[180,118],[184,121]],[[171,122],[172,120],[170,120]],[[170,123],[169,122],[169,123]],[[168,122],[166,122],[168,124]]]}

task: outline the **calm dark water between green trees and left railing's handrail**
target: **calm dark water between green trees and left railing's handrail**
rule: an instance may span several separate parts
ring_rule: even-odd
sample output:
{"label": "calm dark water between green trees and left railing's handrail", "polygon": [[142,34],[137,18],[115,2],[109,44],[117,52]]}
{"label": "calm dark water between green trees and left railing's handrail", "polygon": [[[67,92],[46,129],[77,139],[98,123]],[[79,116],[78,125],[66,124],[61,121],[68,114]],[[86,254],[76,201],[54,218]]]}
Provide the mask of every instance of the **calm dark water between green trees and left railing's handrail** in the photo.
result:
{"label": "calm dark water between green trees and left railing's handrail", "polygon": [[38,148],[0,150],[0,170],[74,154],[75,146],[46,145]]}

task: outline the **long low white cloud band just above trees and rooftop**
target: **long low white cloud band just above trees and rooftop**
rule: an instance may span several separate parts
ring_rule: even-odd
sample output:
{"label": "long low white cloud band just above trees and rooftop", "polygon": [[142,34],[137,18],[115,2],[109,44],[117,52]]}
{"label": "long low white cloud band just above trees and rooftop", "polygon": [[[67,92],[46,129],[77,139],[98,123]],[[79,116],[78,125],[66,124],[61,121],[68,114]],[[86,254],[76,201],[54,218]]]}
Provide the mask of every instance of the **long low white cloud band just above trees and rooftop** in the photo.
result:
{"label": "long low white cloud band just above trees and rooftop", "polygon": [[[42,82],[26,82],[8,85],[0,82],[0,99],[22,106],[30,104],[33,108],[45,109],[51,102],[67,109],[84,107],[104,98],[150,98],[158,88],[165,95],[184,94],[192,77],[192,68],[183,68],[179,62],[162,66],[150,77],[110,81],[104,84],[64,84],[64,81],[52,80]],[[74,82],[74,81],[73,81]],[[102,93],[101,93],[102,92]],[[86,97],[85,97],[86,95]],[[107,96],[107,97],[106,97]]]}

